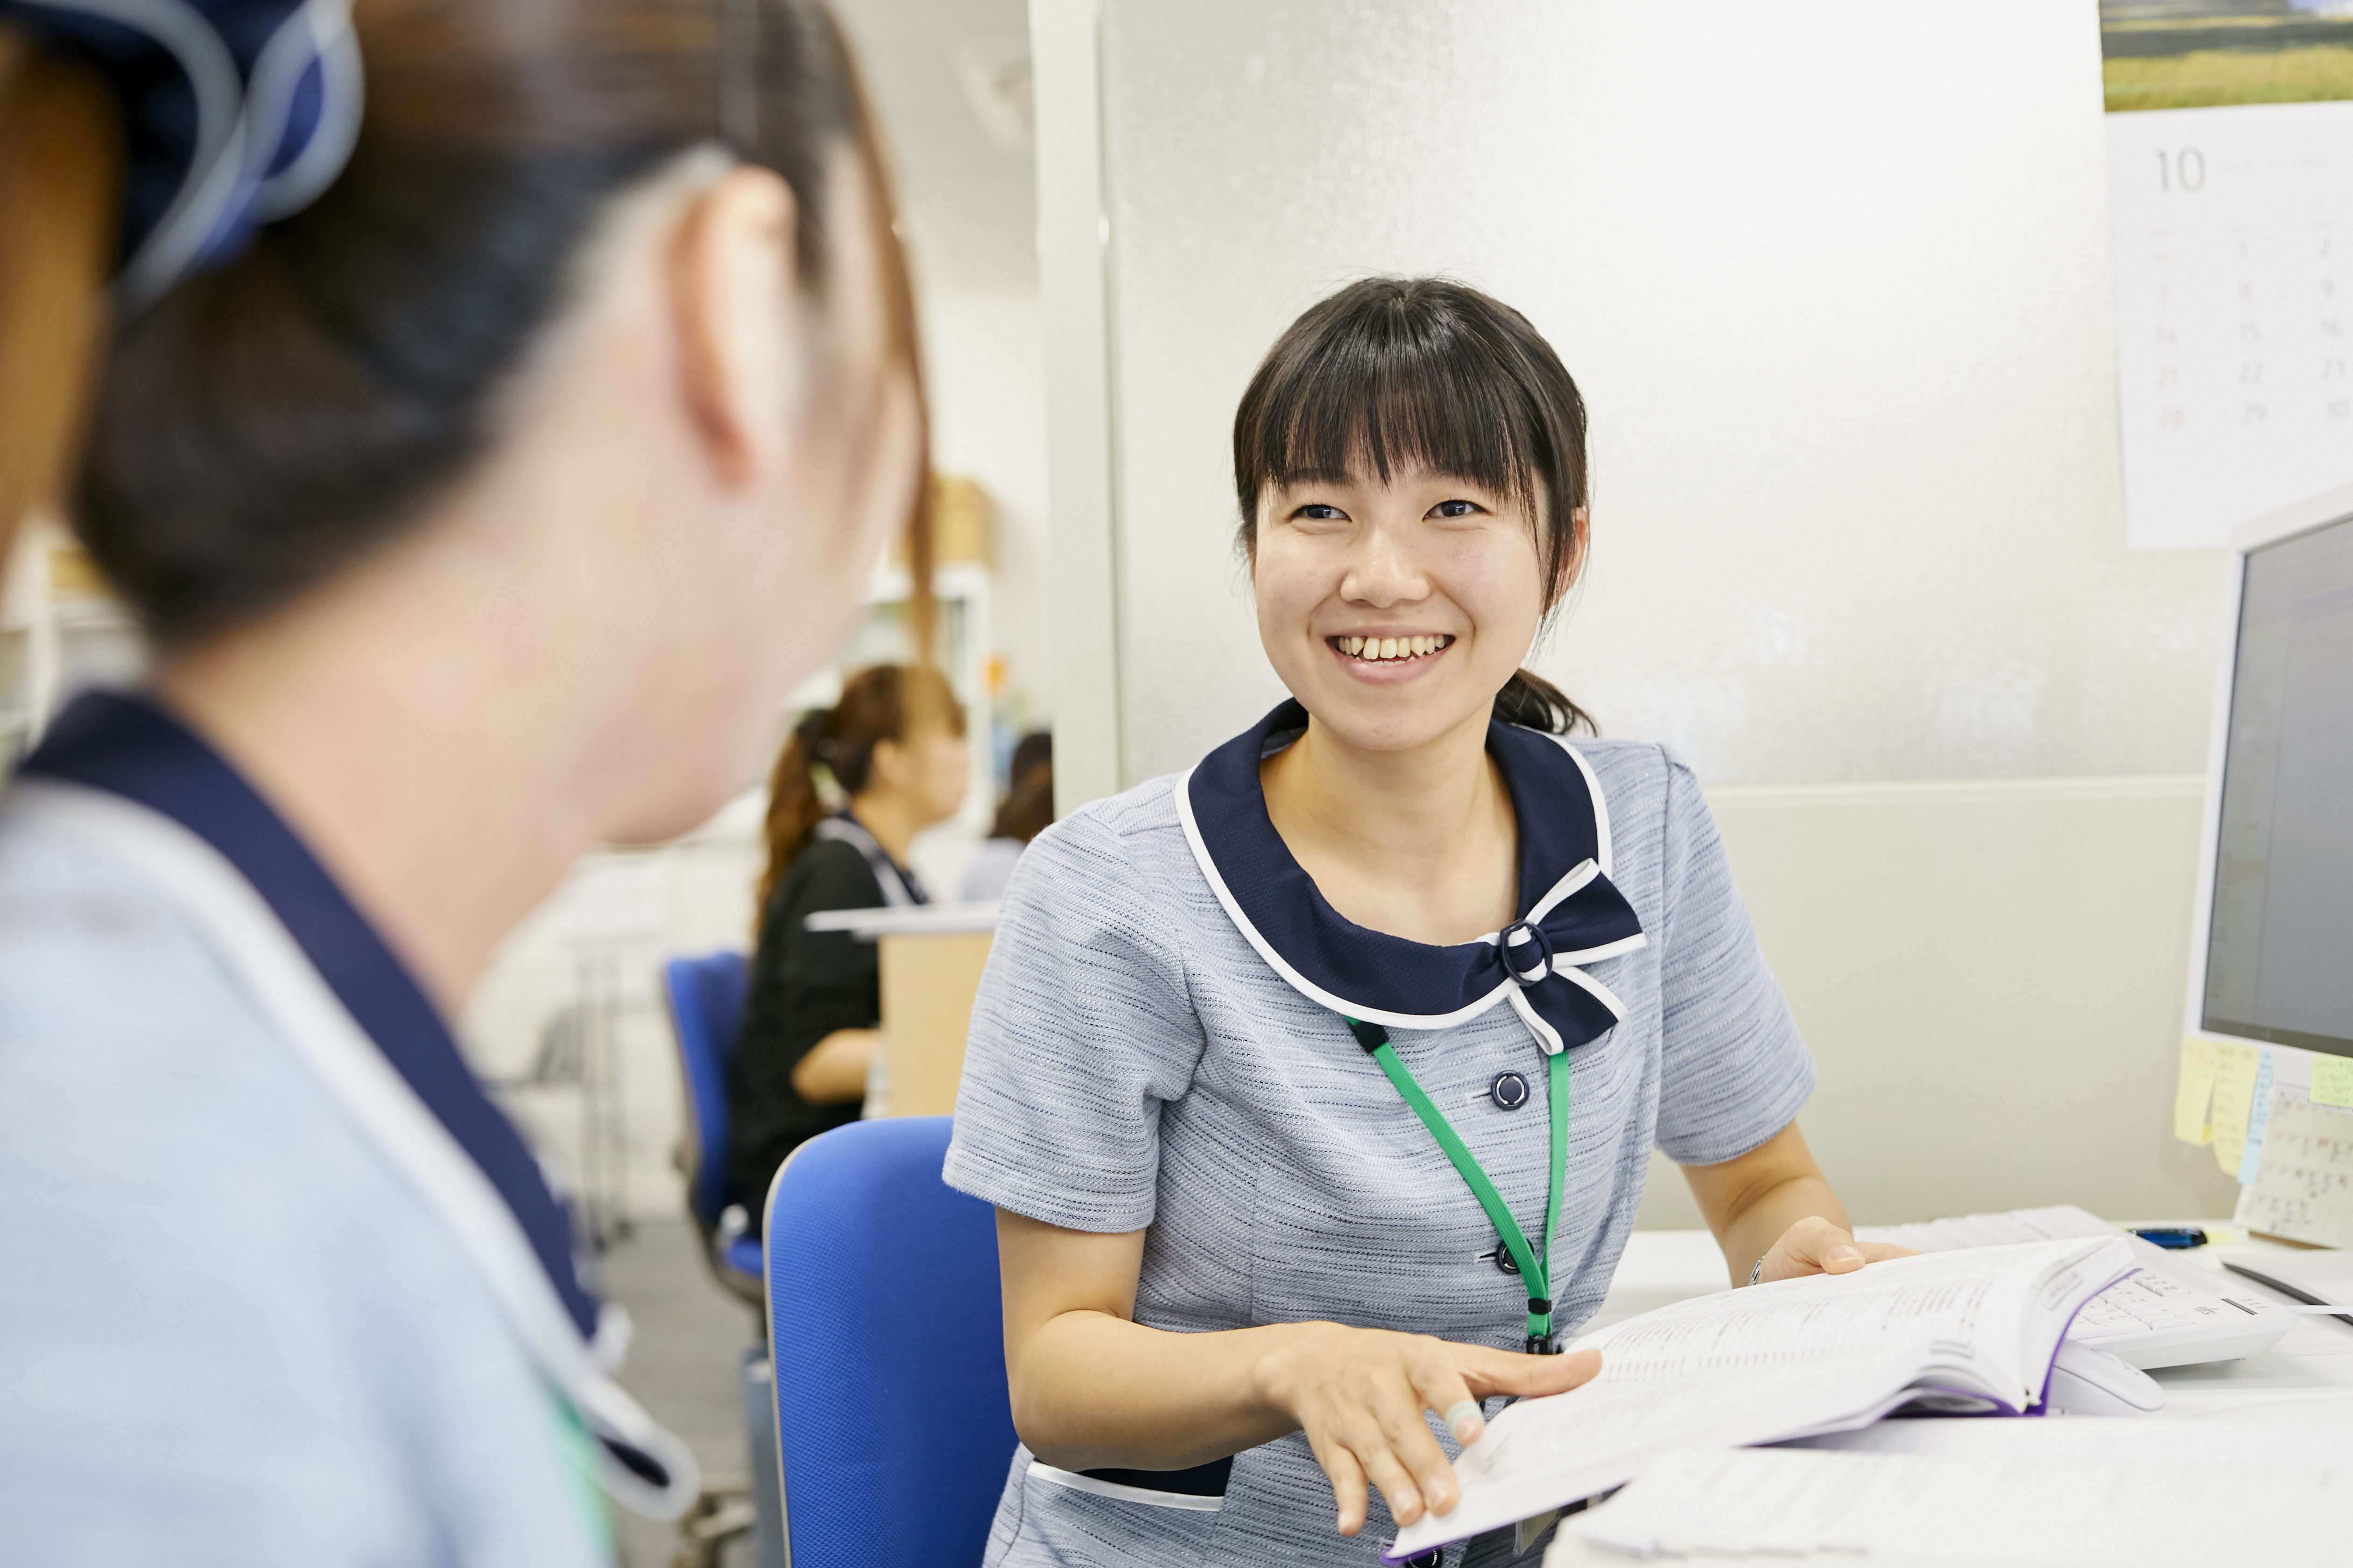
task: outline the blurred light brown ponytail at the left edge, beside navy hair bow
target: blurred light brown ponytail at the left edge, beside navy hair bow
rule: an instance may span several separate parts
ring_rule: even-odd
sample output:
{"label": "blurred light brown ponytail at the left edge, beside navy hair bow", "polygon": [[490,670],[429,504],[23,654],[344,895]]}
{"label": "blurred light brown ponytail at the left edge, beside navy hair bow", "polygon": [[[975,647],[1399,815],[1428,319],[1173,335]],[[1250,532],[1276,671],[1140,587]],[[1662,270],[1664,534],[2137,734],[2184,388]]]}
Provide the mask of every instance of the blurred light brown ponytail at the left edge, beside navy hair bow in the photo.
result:
{"label": "blurred light brown ponytail at the left edge, beside navy hair bow", "polygon": [[0,562],[59,503],[106,331],[122,132],[89,71],[0,28]]}

